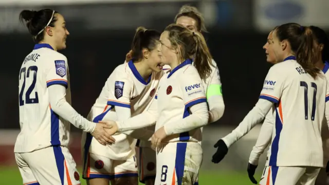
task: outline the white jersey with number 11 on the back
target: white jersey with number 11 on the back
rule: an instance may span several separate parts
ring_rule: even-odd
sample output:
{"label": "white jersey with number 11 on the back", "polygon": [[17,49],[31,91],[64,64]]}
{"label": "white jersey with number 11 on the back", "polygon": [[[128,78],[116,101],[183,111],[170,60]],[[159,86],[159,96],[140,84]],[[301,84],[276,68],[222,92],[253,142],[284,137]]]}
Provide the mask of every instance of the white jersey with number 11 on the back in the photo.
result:
{"label": "white jersey with number 11 on the back", "polygon": [[260,95],[276,108],[269,165],[323,167],[321,126],[326,95],[324,73],[312,78],[296,57],[270,68]]}

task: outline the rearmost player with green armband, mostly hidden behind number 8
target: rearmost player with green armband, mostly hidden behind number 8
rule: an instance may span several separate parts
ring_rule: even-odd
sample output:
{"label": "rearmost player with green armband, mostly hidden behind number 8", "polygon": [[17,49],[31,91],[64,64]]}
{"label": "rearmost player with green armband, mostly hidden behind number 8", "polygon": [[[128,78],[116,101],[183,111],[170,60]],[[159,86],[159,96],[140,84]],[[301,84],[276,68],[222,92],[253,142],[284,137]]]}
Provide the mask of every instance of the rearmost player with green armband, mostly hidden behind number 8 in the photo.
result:
{"label": "rearmost player with green armband, mostly hidden behind number 8", "polygon": [[[207,32],[205,21],[202,14],[197,8],[184,5],[180,8],[175,16],[174,22],[178,25],[184,26],[194,32]],[[211,75],[203,81],[207,102],[209,106],[209,123],[220,119],[224,114],[224,101],[222,96],[222,83],[220,80],[220,71],[214,60],[211,60]],[[163,67],[167,68],[167,67]],[[154,131],[154,126],[148,128]],[[201,130],[202,131],[202,130]],[[201,134],[198,133],[198,134]],[[156,169],[156,154],[151,149],[151,142],[140,140],[139,146],[139,180],[146,185],[154,185]],[[196,183],[197,184],[197,183]]]}

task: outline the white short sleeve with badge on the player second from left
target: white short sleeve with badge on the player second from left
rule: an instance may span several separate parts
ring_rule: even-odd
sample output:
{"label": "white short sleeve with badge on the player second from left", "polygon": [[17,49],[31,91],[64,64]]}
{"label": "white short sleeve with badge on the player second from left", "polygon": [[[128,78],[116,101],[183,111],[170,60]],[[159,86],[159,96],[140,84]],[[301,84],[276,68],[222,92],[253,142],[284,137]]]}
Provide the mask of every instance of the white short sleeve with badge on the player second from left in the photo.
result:
{"label": "white short sleeve with badge on the player second from left", "polygon": [[130,108],[133,83],[129,78],[122,77],[122,74],[119,74],[115,75],[114,78],[110,78],[106,83],[109,88],[107,105]]}

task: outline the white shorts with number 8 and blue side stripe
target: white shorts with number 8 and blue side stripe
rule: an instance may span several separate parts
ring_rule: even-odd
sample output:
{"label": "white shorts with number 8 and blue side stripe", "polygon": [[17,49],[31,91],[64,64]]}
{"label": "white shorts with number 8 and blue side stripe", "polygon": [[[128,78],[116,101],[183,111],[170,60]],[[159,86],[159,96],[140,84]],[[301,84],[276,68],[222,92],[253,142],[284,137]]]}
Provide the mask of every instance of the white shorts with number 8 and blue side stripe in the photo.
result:
{"label": "white shorts with number 8 and blue side stripe", "polygon": [[197,142],[169,142],[157,152],[155,184],[194,184],[202,157]]}

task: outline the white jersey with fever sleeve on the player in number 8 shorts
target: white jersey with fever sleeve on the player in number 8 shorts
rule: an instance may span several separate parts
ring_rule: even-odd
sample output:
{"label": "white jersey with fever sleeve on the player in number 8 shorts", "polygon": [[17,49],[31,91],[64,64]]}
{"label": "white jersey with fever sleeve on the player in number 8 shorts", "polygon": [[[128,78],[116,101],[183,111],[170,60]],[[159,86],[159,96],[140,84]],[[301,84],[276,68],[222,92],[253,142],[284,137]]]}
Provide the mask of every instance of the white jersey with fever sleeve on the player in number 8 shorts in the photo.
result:
{"label": "white jersey with fever sleeve on the player in number 8 shorts", "polygon": [[[166,123],[189,116],[189,107],[207,102],[203,82],[191,60],[179,64],[161,78],[155,99],[159,115],[155,131]],[[170,135],[163,141],[200,141],[202,138],[195,135],[196,132],[200,132],[200,128]]]}

